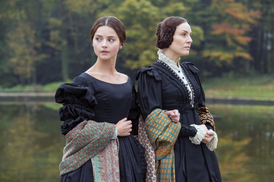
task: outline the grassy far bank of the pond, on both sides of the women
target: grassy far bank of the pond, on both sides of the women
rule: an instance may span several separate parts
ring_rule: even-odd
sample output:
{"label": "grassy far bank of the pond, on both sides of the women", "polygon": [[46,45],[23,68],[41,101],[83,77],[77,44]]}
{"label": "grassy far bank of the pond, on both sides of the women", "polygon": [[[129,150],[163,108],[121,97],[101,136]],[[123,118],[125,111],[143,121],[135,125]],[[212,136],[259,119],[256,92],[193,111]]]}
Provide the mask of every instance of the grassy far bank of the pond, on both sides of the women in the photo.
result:
{"label": "grassy far bank of the pond, on both sides of the women", "polygon": [[[46,85],[17,85],[12,88],[2,88],[5,92],[54,92],[61,83],[70,83],[71,80],[57,81]],[[202,81],[206,97],[209,98],[233,98],[274,101],[274,74],[254,75],[249,77],[237,77],[227,75],[221,78],[213,78]]]}

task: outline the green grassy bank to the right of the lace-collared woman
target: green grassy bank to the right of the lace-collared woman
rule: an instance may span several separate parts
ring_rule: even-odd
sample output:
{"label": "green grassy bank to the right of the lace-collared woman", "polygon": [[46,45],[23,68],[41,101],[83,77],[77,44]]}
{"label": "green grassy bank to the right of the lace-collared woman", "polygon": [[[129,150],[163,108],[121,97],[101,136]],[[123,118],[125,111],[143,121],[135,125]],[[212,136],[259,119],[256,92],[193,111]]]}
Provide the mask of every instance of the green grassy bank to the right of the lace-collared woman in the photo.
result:
{"label": "green grassy bank to the right of the lace-collared woman", "polygon": [[252,77],[222,77],[202,82],[206,97],[241,97],[274,101],[274,74]]}

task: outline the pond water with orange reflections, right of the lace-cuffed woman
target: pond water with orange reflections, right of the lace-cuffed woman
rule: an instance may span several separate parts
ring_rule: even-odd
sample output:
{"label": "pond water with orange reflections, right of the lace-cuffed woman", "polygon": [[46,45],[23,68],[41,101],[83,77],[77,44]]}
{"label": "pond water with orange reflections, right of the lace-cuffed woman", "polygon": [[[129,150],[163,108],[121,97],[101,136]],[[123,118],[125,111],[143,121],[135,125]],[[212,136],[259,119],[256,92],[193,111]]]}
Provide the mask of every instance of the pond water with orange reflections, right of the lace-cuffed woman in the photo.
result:
{"label": "pond water with orange reflections, right of the lace-cuffed woman", "polygon": [[223,181],[273,181],[274,107],[208,105],[215,118]]}

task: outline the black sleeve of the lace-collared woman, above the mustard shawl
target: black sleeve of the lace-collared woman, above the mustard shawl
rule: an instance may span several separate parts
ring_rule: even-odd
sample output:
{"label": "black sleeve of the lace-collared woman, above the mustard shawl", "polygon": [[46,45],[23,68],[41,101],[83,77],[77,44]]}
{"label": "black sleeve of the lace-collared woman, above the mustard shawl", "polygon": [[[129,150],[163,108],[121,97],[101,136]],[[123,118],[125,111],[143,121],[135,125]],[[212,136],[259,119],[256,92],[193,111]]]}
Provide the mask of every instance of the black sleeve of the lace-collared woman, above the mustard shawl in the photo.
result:
{"label": "black sleeve of the lace-collared woman, above the mustard shawl", "polygon": [[143,120],[155,109],[162,109],[161,77],[157,70],[141,68],[136,74],[138,80],[138,102]]}

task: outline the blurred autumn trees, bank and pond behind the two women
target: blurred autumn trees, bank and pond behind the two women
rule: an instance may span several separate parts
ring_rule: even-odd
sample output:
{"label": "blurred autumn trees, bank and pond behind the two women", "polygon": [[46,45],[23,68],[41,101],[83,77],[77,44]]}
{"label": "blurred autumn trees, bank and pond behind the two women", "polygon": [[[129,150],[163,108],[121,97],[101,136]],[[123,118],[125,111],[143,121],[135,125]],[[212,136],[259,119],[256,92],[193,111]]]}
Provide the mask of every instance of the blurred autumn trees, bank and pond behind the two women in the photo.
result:
{"label": "blurred autumn trees, bank and pond behind the two women", "polygon": [[[59,181],[65,136],[57,87],[97,59],[90,29],[102,16],[125,26],[116,69],[135,80],[157,60],[156,26],[190,22],[195,63],[215,118],[223,181],[274,174],[274,1],[1,0],[0,181]],[[135,82],[136,83],[136,82]]]}

